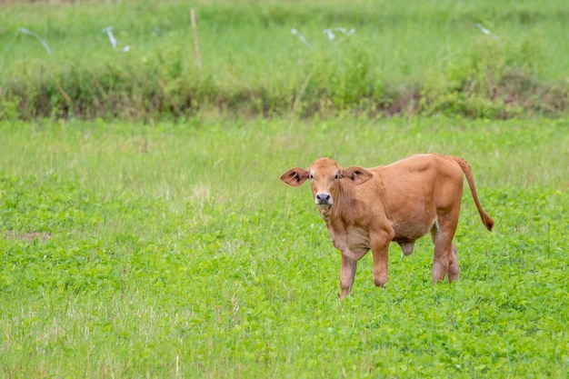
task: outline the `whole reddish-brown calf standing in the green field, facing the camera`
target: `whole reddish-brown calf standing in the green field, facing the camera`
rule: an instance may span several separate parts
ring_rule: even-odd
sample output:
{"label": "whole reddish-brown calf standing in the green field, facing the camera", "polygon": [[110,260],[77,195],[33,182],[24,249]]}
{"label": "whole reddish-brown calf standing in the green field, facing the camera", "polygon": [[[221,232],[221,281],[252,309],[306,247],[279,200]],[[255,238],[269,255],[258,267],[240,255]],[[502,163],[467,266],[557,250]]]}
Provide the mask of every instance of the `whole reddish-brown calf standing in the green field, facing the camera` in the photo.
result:
{"label": "whole reddish-brown calf standing in the green field, facing the camera", "polygon": [[281,175],[287,185],[310,180],[314,202],[342,252],[340,298],[350,293],[357,261],[370,249],[374,254],[374,284],[388,279],[388,250],[394,241],[405,255],[414,242],[431,233],[434,242],[433,283],[458,280],[458,260],[453,244],[463,195],[463,172],[474,204],[488,230],[494,220],[476,195],[470,165],[450,155],[413,155],[391,165],[365,169],[342,168],[330,158],[310,167],[295,167]]}

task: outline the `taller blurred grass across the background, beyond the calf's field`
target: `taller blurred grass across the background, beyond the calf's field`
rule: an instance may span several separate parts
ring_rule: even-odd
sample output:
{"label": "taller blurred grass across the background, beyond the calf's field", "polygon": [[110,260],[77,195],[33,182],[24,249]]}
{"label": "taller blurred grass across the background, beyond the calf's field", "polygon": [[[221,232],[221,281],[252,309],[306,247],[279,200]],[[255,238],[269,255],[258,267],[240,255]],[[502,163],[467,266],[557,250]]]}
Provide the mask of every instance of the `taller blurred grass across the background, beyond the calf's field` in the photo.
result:
{"label": "taller blurred grass across the background, beyond the calf's field", "polygon": [[[245,115],[566,112],[563,1],[207,1],[195,9],[201,69],[185,2],[5,5],[1,116],[154,122],[211,108]],[[109,25],[116,49],[103,32]],[[52,54],[19,27],[41,35]],[[355,34],[329,40],[323,31],[331,27]]]}

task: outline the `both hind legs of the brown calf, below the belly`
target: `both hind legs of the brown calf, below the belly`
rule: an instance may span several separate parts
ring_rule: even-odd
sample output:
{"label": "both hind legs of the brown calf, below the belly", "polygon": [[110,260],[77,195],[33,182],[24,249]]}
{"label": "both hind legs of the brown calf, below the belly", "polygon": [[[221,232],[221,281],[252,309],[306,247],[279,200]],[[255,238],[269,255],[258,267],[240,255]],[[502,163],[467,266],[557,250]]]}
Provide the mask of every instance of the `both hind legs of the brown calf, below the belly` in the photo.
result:
{"label": "both hind legs of the brown calf, below the belly", "polygon": [[458,258],[456,246],[453,244],[456,224],[458,220],[435,223],[431,230],[431,239],[434,243],[433,283],[440,282],[447,274],[449,282],[458,280]]}

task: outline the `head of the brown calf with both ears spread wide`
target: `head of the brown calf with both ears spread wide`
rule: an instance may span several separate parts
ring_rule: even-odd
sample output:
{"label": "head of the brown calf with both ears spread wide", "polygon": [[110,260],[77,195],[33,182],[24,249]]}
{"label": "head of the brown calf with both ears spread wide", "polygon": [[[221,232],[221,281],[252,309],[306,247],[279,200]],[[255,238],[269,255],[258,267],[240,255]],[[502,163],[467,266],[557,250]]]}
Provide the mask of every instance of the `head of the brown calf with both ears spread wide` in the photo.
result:
{"label": "head of the brown calf with both ears spread wide", "polygon": [[334,204],[334,199],[340,193],[341,182],[342,185],[361,185],[372,177],[372,173],[363,167],[353,165],[342,168],[330,158],[320,158],[308,168],[291,168],[281,175],[281,180],[287,185],[297,187],[309,179],[314,203],[321,208],[328,208]]}

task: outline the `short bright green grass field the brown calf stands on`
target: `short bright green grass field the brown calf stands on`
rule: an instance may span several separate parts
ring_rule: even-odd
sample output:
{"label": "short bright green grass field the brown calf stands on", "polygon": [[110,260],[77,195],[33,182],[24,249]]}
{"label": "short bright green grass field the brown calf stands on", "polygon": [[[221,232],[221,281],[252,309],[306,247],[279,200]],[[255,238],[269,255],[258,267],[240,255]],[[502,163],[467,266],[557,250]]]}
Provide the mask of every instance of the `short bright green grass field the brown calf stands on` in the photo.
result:
{"label": "short bright green grass field the brown calf stands on", "polygon": [[[0,376],[554,377],[569,374],[566,119],[0,124]],[[432,246],[371,257],[340,302],[307,188],[331,155],[473,166],[456,284]]]}

